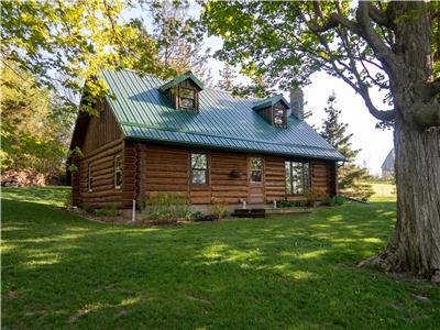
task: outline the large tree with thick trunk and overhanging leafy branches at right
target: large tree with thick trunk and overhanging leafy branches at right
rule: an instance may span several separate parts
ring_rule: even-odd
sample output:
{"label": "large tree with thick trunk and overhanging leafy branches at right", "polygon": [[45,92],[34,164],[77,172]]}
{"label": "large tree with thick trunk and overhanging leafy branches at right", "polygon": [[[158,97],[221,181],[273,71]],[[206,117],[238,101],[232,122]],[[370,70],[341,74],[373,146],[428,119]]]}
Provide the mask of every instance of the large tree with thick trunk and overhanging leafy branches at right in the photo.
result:
{"label": "large tree with thick trunk and overhanging leafy branches at right", "polygon": [[[220,59],[284,89],[327,72],[394,127],[397,222],[386,250],[366,264],[433,282],[440,282],[439,8],[425,1],[209,1],[201,18],[208,33],[224,41]],[[389,109],[373,102],[372,88],[387,92]]]}

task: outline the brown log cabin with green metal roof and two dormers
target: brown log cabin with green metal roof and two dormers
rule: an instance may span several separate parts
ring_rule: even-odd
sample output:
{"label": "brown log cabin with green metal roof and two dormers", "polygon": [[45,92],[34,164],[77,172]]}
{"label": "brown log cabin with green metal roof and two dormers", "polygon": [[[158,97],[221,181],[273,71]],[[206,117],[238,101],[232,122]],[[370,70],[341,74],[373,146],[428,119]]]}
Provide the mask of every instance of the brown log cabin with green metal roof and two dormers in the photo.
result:
{"label": "brown log cabin with green metal roof and two dormers", "polygon": [[78,114],[68,163],[72,204],[116,205],[173,193],[194,206],[301,200],[338,191],[344,161],[304,121],[302,94],[246,99],[207,88],[190,72],[164,81],[103,70],[109,96]]}

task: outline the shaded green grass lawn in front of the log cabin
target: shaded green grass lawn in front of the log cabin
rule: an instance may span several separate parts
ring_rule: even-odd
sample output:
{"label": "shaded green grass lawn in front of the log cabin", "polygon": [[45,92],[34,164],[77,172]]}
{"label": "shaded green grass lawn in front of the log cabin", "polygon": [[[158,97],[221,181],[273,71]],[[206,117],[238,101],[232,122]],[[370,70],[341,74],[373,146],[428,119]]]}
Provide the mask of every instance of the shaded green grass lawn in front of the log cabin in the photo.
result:
{"label": "shaded green grass lawn in front of the log cabin", "polygon": [[3,329],[439,328],[439,287],[356,268],[393,201],[138,228],[51,206],[64,196],[2,191]]}

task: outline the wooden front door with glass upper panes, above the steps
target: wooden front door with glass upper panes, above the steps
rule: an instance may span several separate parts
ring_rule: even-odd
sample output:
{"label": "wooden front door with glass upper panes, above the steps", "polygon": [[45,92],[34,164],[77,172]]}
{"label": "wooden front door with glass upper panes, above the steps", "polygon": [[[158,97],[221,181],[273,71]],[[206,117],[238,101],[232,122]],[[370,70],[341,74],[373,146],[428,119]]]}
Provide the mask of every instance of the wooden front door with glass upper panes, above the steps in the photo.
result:
{"label": "wooden front door with glass upper panes, above the steps", "polygon": [[264,160],[261,156],[248,158],[249,204],[264,204]]}

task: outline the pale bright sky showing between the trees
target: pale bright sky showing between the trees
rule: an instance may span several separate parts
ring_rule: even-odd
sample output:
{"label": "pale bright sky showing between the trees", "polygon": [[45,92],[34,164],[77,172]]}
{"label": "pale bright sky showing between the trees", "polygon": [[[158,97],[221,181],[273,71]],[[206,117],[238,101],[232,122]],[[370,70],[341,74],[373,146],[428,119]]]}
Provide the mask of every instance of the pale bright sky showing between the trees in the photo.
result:
{"label": "pale bright sky showing between the trees", "polygon": [[[197,11],[197,9],[191,8],[191,11]],[[123,13],[124,20],[140,15],[141,11],[139,9],[131,9]],[[145,14],[142,14],[142,16],[146,26],[151,28],[151,23]],[[221,46],[222,40],[217,36],[207,37],[204,41],[204,47],[209,47],[211,54],[220,50]],[[211,69],[215,80],[211,85],[215,85],[219,80],[219,72],[222,69],[223,63],[216,58],[210,58],[208,67]],[[353,147],[361,150],[356,163],[366,166],[371,174],[378,175],[382,163],[393,148],[393,131],[376,129],[377,120],[370,114],[362,97],[356,95],[341,79],[331,77],[324,73],[316,73],[311,76],[310,80],[311,84],[302,89],[306,101],[305,111],[312,112],[311,118],[308,118],[307,122],[318,129],[321,127],[322,120],[326,118],[323,109],[327,106],[328,97],[334,91],[337,96],[336,107],[341,110],[341,121],[348,123],[348,133],[353,133],[351,140]],[[246,77],[239,76],[235,82],[245,81],[249,81]],[[288,100],[288,95],[285,95],[285,97]],[[382,103],[382,97],[378,94],[372,92],[372,99],[376,105]]]}

